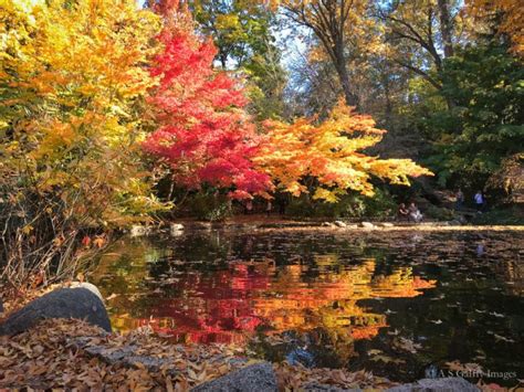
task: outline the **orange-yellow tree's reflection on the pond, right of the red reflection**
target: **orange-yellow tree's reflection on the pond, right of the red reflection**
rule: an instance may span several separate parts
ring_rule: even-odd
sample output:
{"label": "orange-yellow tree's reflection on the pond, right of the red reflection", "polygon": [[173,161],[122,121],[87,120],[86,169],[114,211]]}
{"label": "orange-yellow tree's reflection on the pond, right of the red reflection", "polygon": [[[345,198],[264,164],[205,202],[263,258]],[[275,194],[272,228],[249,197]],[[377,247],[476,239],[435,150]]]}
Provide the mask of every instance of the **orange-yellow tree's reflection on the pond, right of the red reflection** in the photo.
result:
{"label": "orange-yellow tree's reflection on the pond, right of the red reflection", "polygon": [[307,265],[280,268],[271,282],[271,296],[254,299],[254,312],[266,320],[275,332],[343,329],[356,339],[371,338],[386,327],[386,316],[368,312],[356,303],[374,297],[415,297],[421,288],[434,287],[413,276],[410,267],[396,268],[388,276],[375,276],[375,259],[367,259],[350,269],[334,272],[336,255],[317,256],[314,282],[303,282]]}

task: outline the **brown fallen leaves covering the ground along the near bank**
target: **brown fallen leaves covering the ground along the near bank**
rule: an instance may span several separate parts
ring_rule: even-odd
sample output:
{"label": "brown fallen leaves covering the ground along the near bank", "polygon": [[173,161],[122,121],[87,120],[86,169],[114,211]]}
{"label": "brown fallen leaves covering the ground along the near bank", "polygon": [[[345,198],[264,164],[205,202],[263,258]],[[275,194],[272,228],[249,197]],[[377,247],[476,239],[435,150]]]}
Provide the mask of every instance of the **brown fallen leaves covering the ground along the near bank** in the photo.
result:
{"label": "brown fallen leaves covering the ground along the near bank", "polygon": [[[126,350],[130,354],[123,360]],[[0,389],[186,391],[258,361],[241,347],[175,345],[148,327],[108,335],[82,320],[50,319],[14,337],[0,337]],[[273,365],[282,391],[312,383],[396,385],[365,370]]]}

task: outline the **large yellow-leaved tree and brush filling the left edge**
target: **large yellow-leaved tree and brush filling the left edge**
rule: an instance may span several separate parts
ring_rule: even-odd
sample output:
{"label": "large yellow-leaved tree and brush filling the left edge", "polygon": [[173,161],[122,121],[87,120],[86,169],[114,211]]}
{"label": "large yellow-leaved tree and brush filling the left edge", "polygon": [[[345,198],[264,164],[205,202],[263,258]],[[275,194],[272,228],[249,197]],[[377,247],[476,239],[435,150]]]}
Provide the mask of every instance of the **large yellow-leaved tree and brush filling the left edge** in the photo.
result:
{"label": "large yellow-leaved tree and brush filling the left edge", "polygon": [[29,284],[157,206],[139,141],[159,20],[133,0],[3,0],[0,20],[0,263]]}

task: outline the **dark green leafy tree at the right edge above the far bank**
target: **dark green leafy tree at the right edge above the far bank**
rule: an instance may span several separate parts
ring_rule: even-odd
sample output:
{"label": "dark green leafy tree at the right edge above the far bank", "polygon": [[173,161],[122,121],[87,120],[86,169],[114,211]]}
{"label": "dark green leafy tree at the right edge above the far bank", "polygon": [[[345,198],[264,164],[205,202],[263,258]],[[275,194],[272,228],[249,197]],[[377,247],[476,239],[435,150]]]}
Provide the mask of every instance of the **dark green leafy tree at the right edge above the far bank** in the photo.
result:
{"label": "dark green leafy tree at the right edge above the far bank", "polygon": [[428,165],[442,186],[483,188],[502,160],[524,146],[524,67],[507,47],[467,46],[444,62],[443,88],[452,103],[425,120],[434,152]]}

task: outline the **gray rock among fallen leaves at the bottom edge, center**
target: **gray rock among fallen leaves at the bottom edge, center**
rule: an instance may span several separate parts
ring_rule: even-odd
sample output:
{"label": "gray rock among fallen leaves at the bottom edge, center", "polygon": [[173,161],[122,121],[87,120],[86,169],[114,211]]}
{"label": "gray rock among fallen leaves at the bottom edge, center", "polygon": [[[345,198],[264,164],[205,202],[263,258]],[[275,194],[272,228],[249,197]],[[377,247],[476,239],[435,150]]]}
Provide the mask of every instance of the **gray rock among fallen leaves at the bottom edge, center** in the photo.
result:
{"label": "gray rock among fallen leaves at the bottom edge, center", "polygon": [[251,364],[195,386],[192,392],[276,392],[276,377],[269,362]]}

